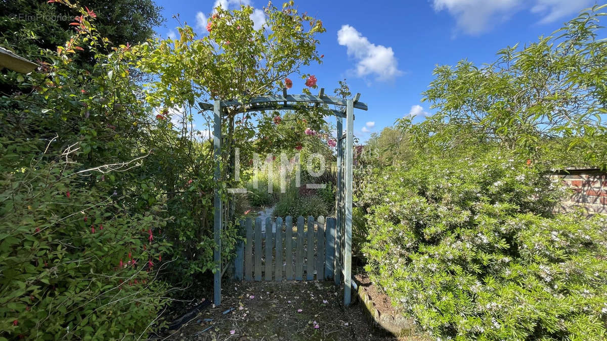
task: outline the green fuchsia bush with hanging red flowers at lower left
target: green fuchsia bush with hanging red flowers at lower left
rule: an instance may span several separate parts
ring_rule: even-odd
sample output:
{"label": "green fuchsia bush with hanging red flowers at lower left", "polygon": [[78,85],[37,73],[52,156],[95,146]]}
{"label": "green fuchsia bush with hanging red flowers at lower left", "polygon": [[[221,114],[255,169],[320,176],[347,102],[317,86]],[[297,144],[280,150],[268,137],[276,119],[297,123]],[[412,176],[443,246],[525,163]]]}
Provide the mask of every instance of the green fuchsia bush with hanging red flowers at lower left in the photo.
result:
{"label": "green fuchsia bush with hanging red flowers at lower left", "polygon": [[77,147],[0,140],[0,338],[141,337],[167,302],[161,206],[129,212],[127,195],[81,187],[99,170],[80,170]]}

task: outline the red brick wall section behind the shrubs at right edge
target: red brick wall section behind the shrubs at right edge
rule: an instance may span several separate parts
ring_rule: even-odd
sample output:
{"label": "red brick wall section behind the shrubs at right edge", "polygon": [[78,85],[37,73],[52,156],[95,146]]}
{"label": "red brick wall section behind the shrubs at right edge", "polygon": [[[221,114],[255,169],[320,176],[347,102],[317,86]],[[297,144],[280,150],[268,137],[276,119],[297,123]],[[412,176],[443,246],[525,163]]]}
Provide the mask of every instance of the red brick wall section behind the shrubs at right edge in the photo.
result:
{"label": "red brick wall section behind the shrubs at right edge", "polygon": [[563,198],[557,212],[582,206],[589,215],[607,214],[607,172],[594,168],[568,168],[554,172],[550,177],[560,179],[563,186],[574,191],[571,197]]}

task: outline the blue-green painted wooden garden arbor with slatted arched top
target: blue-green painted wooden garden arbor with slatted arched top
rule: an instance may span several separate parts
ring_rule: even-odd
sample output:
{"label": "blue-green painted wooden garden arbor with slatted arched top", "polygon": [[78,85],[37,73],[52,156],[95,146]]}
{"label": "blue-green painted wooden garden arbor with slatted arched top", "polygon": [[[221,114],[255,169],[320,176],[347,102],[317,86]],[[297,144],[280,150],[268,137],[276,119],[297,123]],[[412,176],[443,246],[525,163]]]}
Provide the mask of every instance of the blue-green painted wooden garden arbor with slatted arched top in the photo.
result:
{"label": "blue-green painted wooden garden arbor with slatted arched top", "polygon": [[[324,89],[320,89],[318,96],[314,95],[287,95],[287,89],[283,89],[282,96],[259,96],[251,98],[248,103],[239,101],[215,100],[212,106],[214,111],[213,149],[215,160],[215,190],[214,190],[214,240],[213,251],[215,262],[214,274],[214,303],[221,304],[222,287],[222,186],[221,177],[221,140],[222,140],[222,117],[226,107],[237,107],[239,112],[256,112],[262,110],[300,110],[300,103],[313,103],[315,106],[329,104],[342,106],[345,109],[329,109],[337,117],[337,204],[336,204],[336,262],[342,269],[344,277],[344,305],[350,305],[351,299],[351,256],[352,256],[352,178],[353,178],[353,156],[354,156],[354,108],[367,110],[367,104],[359,102],[360,93],[352,99],[344,100],[324,95]],[[201,104],[203,109],[211,109],[211,104]],[[345,133],[343,131],[342,119],[346,119]],[[341,283],[341,276],[334,277],[335,284]]]}

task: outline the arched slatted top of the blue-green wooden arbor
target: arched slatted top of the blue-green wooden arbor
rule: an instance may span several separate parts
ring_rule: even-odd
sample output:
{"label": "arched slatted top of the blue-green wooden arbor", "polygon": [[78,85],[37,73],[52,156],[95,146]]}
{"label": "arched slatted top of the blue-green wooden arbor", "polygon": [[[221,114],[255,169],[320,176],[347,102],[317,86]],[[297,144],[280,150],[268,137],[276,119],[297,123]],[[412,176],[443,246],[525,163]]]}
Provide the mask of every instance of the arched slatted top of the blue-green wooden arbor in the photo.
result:
{"label": "arched slatted top of the blue-green wooden arbor", "polygon": [[[354,108],[367,110],[367,104],[359,102],[361,97],[360,93],[357,93],[353,98]],[[316,105],[329,104],[335,106],[343,106],[344,110],[329,109],[334,115],[339,117],[346,117],[345,107],[348,105],[348,100],[344,98],[338,98],[334,96],[325,95],[325,89],[320,89],[319,95],[287,95],[287,89],[283,89],[282,96],[280,95],[268,95],[268,96],[257,96],[253,97],[246,103],[242,103],[239,100],[228,100],[220,101],[220,107],[240,107],[238,112],[254,112],[262,110],[297,110],[301,109],[296,107],[297,103],[314,103]],[[203,110],[213,109],[213,104],[200,103],[200,107]]]}

